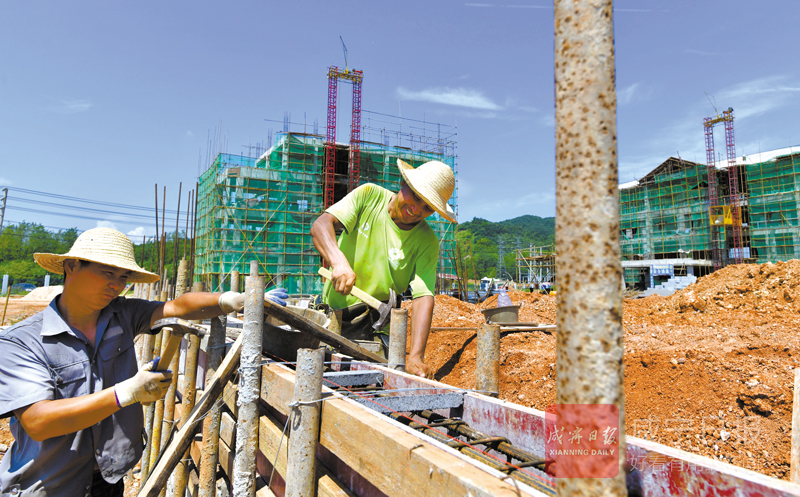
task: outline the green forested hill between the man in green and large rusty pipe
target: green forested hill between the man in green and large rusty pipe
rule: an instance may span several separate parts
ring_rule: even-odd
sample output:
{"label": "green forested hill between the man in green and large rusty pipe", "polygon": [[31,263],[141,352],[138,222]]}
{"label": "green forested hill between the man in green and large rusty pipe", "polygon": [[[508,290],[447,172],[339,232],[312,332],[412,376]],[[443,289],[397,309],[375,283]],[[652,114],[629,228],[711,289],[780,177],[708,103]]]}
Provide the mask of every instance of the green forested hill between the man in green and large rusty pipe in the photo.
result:
{"label": "green forested hill between the man in green and large rusty pipe", "polygon": [[[554,217],[527,215],[499,223],[476,217],[472,221],[458,225],[459,246],[464,250],[461,252],[461,257],[466,258],[466,251],[471,249],[478,277],[497,277],[498,244],[501,239],[506,269],[513,276],[516,274],[516,249],[528,248],[531,245],[534,247],[554,245],[555,234]],[[471,264],[469,267],[471,273]]]}

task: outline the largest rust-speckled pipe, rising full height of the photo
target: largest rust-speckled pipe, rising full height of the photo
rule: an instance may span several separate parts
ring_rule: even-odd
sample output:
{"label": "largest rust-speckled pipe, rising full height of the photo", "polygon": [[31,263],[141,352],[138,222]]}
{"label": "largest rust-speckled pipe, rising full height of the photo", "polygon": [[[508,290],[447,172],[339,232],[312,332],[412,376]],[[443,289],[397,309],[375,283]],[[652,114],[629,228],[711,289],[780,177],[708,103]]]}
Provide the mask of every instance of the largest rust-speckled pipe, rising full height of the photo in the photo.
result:
{"label": "largest rust-speckled pipe, rising full height of the photo", "polygon": [[615,478],[560,495],[626,495],[612,0],[555,1],[557,399],[619,409]]}

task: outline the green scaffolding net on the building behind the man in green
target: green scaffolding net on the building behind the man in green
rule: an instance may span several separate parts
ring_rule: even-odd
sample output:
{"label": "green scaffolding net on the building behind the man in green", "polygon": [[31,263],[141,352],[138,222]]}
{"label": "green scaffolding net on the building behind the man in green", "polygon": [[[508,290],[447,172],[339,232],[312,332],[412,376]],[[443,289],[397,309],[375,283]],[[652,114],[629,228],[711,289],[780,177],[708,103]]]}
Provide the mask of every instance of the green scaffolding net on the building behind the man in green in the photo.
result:
{"label": "green scaffolding net on the building behind the man in green", "polygon": [[[346,158],[347,147],[337,145]],[[397,191],[397,158],[413,166],[454,157],[364,143],[360,147],[361,183]],[[346,159],[345,159],[346,161]],[[292,295],[322,291],[320,257],[309,231],[323,212],[325,146],[319,135],[282,133],[260,158],[219,154],[200,177],[196,274],[214,290],[229,288],[231,271],[249,272],[257,260],[267,287],[282,286]],[[346,162],[345,162],[346,168]],[[337,175],[339,176],[339,175]],[[346,179],[346,175],[342,175]],[[341,181],[339,183],[342,183]],[[340,195],[346,190],[339,189]],[[450,199],[455,210],[456,196]],[[455,274],[455,224],[438,214],[427,219],[439,238],[439,276]]]}

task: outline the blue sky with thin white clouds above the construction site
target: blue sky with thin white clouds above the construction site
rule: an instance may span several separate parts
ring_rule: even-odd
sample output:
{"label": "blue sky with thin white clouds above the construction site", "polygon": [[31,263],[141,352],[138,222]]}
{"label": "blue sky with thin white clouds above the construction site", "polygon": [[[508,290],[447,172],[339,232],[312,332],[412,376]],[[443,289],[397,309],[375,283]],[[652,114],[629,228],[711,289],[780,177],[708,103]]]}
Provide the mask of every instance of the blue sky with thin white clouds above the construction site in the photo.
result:
{"label": "blue sky with thin white clouds above the construction site", "polygon": [[[738,155],[800,144],[798,6],[616,2],[620,182],[677,154],[704,162],[709,95],[735,110]],[[14,188],[149,207],[158,183],[174,209],[183,182],[185,205],[217,130],[237,154],[282,129],[265,119],[286,112],[324,129],[340,36],[364,71],[364,110],[457,126],[459,221],[555,215],[551,3],[6,1],[6,220],[152,234],[115,214],[14,210],[26,205]],[[339,102],[347,141],[348,85]],[[718,130],[718,151],[723,141]]]}

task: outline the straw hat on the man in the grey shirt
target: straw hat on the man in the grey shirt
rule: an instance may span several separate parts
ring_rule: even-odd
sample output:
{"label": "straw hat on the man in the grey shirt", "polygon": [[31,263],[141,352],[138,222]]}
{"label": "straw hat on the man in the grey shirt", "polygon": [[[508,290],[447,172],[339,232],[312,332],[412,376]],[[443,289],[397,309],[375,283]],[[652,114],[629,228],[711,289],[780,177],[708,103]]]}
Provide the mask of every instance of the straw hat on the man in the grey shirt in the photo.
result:
{"label": "straw hat on the man in the grey shirt", "polygon": [[111,228],[84,231],[66,254],[33,254],[37,264],[51,273],[64,274],[64,261],[79,259],[133,271],[129,283],[155,283],[157,274],[145,271],[136,264],[130,239]]}

